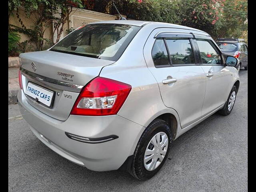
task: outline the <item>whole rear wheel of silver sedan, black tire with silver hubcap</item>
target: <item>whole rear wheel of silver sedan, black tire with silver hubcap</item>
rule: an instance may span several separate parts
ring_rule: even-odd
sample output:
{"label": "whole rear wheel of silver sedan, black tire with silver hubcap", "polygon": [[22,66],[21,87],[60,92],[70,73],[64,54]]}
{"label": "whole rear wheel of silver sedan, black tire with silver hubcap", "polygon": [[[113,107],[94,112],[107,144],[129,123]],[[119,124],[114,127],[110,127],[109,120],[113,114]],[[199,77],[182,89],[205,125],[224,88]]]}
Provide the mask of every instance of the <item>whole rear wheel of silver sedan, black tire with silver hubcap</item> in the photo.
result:
{"label": "whole rear wheel of silver sedan, black tire with silver hubcap", "polygon": [[[168,138],[168,141],[166,141],[166,136]],[[156,138],[156,140],[154,140],[154,138]],[[152,142],[157,142],[157,140],[160,141],[158,142],[159,146],[153,145]],[[134,152],[132,167],[129,171],[130,174],[132,174],[132,176],[134,176],[138,180],[147,180],[152,178],[160,170],[166,158],[168,157],[171,141],[172,134],[170,131],[170,127],[164,120],[156,119],[153,122],[151,122],[149,126],[146,128],[146,130],[143,132],[142,136],[140,137],[140,140],[138,141],[138,144]],[[164,144],[165,146],[162,148],[161,146],[163,146]],[[150,153],[151,151],[149,150],[152,150],[154,151],[154,153],[152,152],[152,154],[146,156],[146,150],[147,152]],[[164,153],[165,155],[163,157]],[[160,156],[162,157],[162,161],[160,160],[160,158],[158,158]]]}

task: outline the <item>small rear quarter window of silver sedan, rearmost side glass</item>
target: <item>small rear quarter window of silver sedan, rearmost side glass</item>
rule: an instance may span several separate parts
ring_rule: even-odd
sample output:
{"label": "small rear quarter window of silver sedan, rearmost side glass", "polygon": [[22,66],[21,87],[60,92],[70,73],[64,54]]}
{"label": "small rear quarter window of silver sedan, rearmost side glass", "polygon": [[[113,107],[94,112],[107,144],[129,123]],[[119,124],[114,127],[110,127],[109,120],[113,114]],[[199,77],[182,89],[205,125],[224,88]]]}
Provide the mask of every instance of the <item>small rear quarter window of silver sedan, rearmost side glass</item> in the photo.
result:
{"label": "small rear quarter window of silver sedan, rearmost side glass", "polygon": [[156,39],[152,49],[152,58],[155,66],[170,66],[166,46],[162,38]]}

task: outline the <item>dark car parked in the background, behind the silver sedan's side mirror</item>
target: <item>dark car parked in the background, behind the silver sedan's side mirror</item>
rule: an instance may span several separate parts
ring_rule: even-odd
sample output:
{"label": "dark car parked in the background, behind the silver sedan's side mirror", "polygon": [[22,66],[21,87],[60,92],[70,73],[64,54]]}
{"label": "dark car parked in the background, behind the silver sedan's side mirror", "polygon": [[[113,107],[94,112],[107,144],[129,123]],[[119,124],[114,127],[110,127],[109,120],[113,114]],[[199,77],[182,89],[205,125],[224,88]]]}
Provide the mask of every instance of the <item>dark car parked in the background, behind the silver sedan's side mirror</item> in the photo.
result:
{"label": "dark car parked in the background, behind the silver sedan's side mirror", "polygon": [[218,38],[216,42],[224,54],[238,58],[238,72],[243,67],[248,70],[248,47],[243,41],[244,39]]}

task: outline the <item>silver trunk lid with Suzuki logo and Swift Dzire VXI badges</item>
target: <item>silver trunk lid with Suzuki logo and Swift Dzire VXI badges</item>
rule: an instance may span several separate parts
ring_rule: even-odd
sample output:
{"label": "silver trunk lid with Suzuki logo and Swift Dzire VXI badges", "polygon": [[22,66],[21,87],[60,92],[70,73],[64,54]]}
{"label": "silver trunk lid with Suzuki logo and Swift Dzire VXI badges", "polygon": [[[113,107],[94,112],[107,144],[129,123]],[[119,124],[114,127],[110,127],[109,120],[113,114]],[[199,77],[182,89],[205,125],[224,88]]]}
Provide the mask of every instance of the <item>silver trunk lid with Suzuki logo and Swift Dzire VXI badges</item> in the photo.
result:
{"label": "silver trunk lid with Suzuki logo and Swift Dzire VXI badges", "polygon": [[54,93],[51,106],[35,102],[28,95],[27,101],[44,114],[62,121],[68,118],[81,88],[98,76],[102,67],[114,63],[50,50],[23,53],[19,57],[23,92],[30,82]]}

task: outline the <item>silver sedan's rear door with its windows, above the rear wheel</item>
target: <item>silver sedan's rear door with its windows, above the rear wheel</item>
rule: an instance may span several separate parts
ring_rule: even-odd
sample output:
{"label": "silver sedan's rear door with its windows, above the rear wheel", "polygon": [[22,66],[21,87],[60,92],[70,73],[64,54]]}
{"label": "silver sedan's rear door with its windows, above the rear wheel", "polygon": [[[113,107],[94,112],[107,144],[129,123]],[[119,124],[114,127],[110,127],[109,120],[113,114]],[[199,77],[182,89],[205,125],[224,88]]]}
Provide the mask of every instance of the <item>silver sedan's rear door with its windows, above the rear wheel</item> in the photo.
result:
{"label": "silver sedan's rear door with its windows, above the rear wheel", "polygon": [[182,128],[201,117],[206,77],[197,65],[188,30],[154,30],[145,46],[144,57],[158,82],[164,104],[178,112]]}

